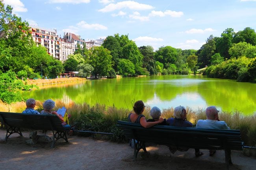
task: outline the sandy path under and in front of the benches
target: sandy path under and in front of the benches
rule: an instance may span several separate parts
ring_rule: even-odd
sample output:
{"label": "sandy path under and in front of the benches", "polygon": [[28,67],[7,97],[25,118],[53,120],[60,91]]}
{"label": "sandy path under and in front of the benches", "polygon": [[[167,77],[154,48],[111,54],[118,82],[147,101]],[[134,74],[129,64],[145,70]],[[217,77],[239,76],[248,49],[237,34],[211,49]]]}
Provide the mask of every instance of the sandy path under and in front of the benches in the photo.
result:
{"label": "sandy path under and in front of the benches", "polygon": [[[11,135],[4,142],[6,130],[0,130],[1,170],[225,170],[224,151],[213,157],[208,150],[195,157],[194,150],[177,151],[172,155],[167,146],[149,146],[149,155],[139,153],[133,161],[134,150],[128,144],[95,140],[89,137],[68,136],[69,143],[59,140],[55,148],[50,144],[27,145],[24,137]],[[42,134],[42,133],[41,133]],[[50,133],[48,133],[50,135]],[[241,151],[232,151],[234,165],[230,170],[254,170],[256,158],[247,157]]]}

